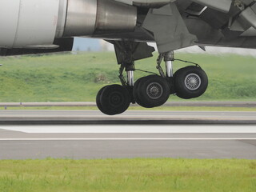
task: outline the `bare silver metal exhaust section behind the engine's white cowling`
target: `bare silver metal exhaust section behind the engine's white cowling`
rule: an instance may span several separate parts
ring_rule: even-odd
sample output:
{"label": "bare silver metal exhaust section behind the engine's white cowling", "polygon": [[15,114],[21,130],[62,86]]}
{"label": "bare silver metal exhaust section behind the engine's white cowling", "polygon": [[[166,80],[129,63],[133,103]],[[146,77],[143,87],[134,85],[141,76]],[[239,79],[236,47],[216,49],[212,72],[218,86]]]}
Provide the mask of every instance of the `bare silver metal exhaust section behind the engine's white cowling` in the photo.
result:
{"label": "bare silver metal exhaust section behind the engine's white cowling", "polygon": [[67,6],[64,36],[129,32],[136,26],[134,6],[113,0],[68,0]]}

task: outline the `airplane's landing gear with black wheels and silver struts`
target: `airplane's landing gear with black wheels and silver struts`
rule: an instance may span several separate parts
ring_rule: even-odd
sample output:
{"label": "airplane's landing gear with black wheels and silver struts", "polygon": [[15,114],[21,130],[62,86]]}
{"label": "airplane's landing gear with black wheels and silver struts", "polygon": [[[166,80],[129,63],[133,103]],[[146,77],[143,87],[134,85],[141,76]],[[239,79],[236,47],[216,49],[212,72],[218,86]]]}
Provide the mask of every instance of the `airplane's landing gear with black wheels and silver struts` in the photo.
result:
{"label": "airplane's landing gear with black wheels and silver struts", "polygon": [[[208,86],[208,78],[200,66],[186,66],[173,71],[174,53],[160,54],[157,69],[159,74],[152,74],[139,78],[134,83],[134,61],[130,59],[132,54],[127,54],[120,69],[120,85],[105,86],[98,91],[97,106],[104,114],[114,115],[125,112],[130,103],[138,103],[139,106],[153,108],[166,103],[170,94],[179,98],[198,98],[205,93]],[[166,62],[166,73],[162,70],[161,62]],[[127,80],[122,75],[126,70]]]}

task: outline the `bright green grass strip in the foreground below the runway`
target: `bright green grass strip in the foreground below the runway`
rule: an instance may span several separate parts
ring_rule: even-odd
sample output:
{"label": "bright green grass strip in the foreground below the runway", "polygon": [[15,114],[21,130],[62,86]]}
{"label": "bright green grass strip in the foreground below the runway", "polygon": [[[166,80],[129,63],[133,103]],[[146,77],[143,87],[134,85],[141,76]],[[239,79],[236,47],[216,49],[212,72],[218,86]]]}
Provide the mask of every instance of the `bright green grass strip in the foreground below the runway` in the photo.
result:
{"label": "bright green grass strip in the foreground below the runway", "polygon": [[104,159],[0,161],[2,192],[256,191],[255,160]]}

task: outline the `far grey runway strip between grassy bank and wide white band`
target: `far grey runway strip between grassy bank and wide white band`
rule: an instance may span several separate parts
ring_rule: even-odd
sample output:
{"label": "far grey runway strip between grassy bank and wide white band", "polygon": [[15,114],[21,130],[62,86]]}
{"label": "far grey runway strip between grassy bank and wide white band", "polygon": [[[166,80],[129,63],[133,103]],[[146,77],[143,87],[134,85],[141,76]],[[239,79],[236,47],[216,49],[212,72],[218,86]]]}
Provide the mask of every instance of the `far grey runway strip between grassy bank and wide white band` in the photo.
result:
{"label": "far grey runway strip between grassy bank and wide white band", "polygon": [[256,112],[126,111],[107,116],[97,110],[1,110],[2,125],[58,124],[256,124]]}

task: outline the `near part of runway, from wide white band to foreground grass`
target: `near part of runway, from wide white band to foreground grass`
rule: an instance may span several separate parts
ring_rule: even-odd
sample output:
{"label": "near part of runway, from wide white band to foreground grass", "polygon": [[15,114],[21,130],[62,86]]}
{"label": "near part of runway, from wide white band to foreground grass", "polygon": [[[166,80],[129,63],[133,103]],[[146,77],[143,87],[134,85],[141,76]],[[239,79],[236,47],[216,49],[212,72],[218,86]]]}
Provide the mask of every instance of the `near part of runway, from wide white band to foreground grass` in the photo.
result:
{"label": "near part of runway, from wide white band to foreground grass", "polygon": [[0,126],[0,159],[256,158],[255,126]]}

